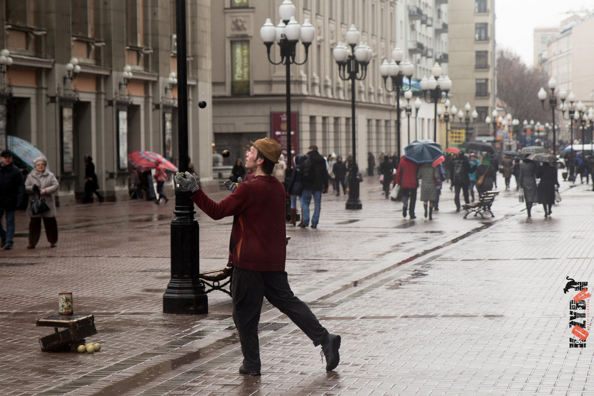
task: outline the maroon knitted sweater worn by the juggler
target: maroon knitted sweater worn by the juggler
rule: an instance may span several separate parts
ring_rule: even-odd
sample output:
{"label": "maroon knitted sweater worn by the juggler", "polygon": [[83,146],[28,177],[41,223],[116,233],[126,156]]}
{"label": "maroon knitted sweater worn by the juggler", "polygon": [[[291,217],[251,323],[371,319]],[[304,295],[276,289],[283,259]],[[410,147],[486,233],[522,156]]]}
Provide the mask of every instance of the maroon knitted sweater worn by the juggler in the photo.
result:
{"label": "maroon knitted sweater worn by the juggler", "polygon": [[252,271],[285,271],[285,188],[274,176],[241,183],[219,203],[201,189],[192,201],[214,220],[233,216],[229,261]]}

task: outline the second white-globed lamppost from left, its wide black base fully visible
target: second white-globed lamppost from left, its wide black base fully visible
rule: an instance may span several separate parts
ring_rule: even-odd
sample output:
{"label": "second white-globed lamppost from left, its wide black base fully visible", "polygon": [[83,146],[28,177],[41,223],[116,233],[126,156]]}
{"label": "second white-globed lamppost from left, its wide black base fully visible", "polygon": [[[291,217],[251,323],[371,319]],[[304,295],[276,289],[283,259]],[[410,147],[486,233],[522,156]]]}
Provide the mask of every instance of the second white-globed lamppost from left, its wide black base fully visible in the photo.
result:
{"label": "second white-globed lamppost from left, its wide black base fully visible", "polygon": [[[355,25],[351,25],[346,32],[347,47],[343,43],[338,43],[332,51],[334,61],[338,65],[339,76],[342,80],[350,80],[350,109],[351,109],[351,136],[353,160],[349,173],[349,199],[346,201],[346,209],[361,209],[363,205],[359,200],[359,166],[356,160],[356,137],[355,137],[355,81],[364,80],[367,75],[367,65],[371,61],[371,48],[364,43],[359,42],[359,30]],[[355,49],[356,47],[356,49]],[[400,154],[400,153],[399,153]]]}

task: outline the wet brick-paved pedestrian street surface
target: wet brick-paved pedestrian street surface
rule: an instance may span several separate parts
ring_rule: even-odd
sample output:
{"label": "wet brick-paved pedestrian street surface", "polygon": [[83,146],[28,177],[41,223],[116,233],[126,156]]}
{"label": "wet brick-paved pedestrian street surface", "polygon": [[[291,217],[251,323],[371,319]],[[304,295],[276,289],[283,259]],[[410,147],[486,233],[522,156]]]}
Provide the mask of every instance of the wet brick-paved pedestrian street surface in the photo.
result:
{"label": "wet brick-paved pedestrian street surface", "polygon": [[[463,219],[444,189],[434,220],[402,217],[376,177],[363,209],[324,195],[318,229],[287,226],[293,291],[342,335],[341,362],[264,304],[262,376],[238,375],[241,350],[230,298],[208,294],[208,315],[162,314],[169,281],[173,201],[58,210],[58,247],[45,234],[0,251],[0,395],[592,395],[592,349],[570,348],[566,278],[594,282],[592,185],[561,182],[563,201],[526,218],[515,189],[494,218]],[[501,186],[503,179],[498,180]],[[514,185],[514,183],[512,182]],[[225,192],[214,194],[222,199]],[[231,220],[197,213],[201,271],[225,263]],[[44,353],[57,293],[93,313],[94,354]],[[587,306],[587,330],[592,315]]]}

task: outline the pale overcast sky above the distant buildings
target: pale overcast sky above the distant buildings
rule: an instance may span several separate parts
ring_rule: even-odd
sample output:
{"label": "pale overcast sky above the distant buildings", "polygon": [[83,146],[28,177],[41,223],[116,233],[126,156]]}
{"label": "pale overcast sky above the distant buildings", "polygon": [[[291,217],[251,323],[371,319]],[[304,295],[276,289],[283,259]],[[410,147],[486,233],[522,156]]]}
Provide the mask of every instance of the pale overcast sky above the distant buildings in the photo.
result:
{"label": "pale overcast sky above the distant buildings", "polygon": [[594,9],[594,0],[495,0],[497,49],[511,50],[532,66],[534,28],[558,26],[569,11],[583,9]]}

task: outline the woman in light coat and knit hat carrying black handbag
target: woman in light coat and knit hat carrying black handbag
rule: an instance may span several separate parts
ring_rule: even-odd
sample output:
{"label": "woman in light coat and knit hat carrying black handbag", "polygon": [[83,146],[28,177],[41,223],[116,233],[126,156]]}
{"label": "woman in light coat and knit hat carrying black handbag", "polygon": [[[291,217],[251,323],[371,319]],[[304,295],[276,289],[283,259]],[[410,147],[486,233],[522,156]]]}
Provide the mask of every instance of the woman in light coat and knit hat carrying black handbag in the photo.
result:
{"label": "woman in light coat and knit hat carrying black handbag", "polygon": [[[56,203],[53,194],[58,191],[58,179],[47,169],[48,160],[45,158],[37,157],[33,164],[35,169],[29,173],[27,180],[25,180],[25,192],[29,194],[27,216],[31,218],[29,221],[29,246],[27,246],[27,249],[34,249],[37,242],[39,242],[42,219],[50,247],[55,248],[58,242],[58,223],[56,223]],[[39,196],[45,199],[46,204],[48,204],[48,211],[40,214],[31,212],[31,201],[38,198],[38,193],[35,192],[37,188],[34,188],[34,186],[39,188]]]}

